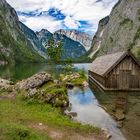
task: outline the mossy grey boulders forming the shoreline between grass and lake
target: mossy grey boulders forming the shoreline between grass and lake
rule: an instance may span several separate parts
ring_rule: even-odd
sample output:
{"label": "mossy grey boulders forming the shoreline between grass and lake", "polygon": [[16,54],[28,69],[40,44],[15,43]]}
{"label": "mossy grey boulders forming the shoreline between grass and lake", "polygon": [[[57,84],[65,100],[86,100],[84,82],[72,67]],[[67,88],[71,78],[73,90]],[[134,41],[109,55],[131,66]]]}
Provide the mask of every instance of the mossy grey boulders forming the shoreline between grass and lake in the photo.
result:
{"label": "mossy grey boulders forming the shoreline between grass and lake", "polygon": [[85,86],[86,84],[86,79],[81,78],[79,73],[61,75],[59,80],[56,80],[50,74],[40,72],[16,84],[0,79],[1,90],[21,94],[29,102],[48,103],[55,107],[69,105],[67,88]]}

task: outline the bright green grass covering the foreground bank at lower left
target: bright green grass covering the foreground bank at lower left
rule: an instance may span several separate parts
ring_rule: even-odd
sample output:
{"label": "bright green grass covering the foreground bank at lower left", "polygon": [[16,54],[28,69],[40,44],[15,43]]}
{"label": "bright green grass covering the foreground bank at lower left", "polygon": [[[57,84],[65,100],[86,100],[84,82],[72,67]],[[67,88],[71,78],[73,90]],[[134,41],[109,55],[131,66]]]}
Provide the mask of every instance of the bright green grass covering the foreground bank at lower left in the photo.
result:
{"label": "bright green grass covering the foreground bank at lower left", "polygon": [[60,109],[48,104],[28,104],[20,96],[14,100],[0,101],[0,122],[0,131],[2,131],[0,140],[19,140],[19,137],[21,137],[21,140],[30,137],[37,140],[47,140],[48,135],[46,133],[37,133],[30,130],[28,127],[30,123],[43,123],[48,128],[55,128],[67,133],[70,131],[82,134],[100,133],[99,128],[71,121],[67,116],[62,115]]}

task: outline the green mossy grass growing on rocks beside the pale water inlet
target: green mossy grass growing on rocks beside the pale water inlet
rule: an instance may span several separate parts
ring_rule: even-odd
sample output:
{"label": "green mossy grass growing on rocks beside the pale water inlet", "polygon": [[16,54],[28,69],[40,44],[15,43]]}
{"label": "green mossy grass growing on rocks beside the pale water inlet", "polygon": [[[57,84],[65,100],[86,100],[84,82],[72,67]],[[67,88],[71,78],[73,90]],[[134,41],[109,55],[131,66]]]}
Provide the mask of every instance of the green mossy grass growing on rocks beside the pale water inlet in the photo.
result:
{"label": "green mossy grass growing on rocks beside the pale water inlet", "polygon": [[40,87],[40,90],[32,96],[24,95],[23,91],[20,93],[23,95],[23,99],[28,103],[48,103],[55,107],[62,107],[64,103],[69,103],[66,87],[53,82],[43,85]]}

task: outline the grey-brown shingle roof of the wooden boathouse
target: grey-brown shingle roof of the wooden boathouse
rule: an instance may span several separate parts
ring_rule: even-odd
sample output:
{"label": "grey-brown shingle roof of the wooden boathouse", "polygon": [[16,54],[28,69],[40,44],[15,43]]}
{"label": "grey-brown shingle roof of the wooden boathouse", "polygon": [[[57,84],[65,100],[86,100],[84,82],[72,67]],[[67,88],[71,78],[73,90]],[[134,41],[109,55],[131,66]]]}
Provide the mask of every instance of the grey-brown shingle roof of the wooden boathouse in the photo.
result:
{"label": "grey-brown shingle roof of the wooden boathouse", "polygon": [[90,71],[98,75],[105,76],[106,73],[110,69],[113,69],[114,66],[116,66],[127,54],[133,57],[133,55],[129,51],[100,56],[92,62]]}

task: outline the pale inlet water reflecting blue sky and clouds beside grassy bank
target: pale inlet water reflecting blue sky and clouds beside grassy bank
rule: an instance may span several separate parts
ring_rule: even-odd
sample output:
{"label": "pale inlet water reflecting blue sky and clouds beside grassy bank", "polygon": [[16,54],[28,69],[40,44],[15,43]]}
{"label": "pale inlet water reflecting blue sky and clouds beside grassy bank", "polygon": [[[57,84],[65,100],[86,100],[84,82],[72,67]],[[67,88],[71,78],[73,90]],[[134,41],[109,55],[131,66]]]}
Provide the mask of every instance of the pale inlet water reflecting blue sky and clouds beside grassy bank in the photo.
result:
{"label": "pale inlet water reflecting blue sky and clouds beside grassy bank", "polygon": [[67,111],[77,113],[77,116],[73,117],[74,120],[107,129],[112,135],[112,140],[125,140],[117,128],[117,123],[100,107],[89,87],[75,87],[68,90],[68,95],[71,106]]}

